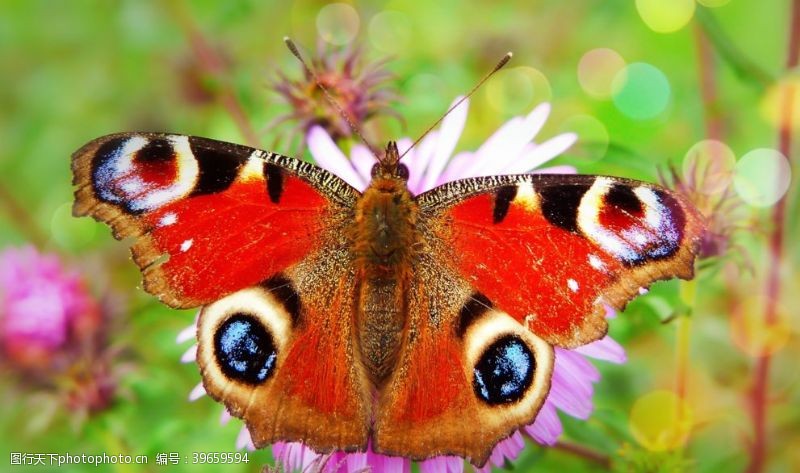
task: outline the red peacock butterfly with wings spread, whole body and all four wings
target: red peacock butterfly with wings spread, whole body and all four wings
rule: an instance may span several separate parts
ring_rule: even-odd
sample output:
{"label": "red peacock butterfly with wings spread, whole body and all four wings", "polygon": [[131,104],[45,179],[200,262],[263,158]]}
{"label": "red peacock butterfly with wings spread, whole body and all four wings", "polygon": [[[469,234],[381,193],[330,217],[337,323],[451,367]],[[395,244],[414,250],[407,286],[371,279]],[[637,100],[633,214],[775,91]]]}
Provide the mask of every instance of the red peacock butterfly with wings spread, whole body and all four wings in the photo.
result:
{"label": "red peacock butterfly with wings spread, whole body and all four wings", "polygon": [[553,347],[602,337],[605,304],[691,278],[702,230],[681,196],[614,177],[414,196],[394,143],[363,193],[307,162],[172,134],[98,138],[72,168],[74,214],[133,238],[148,292],[202,306],[203,384],[257,446],[482,466],[536,417]]}

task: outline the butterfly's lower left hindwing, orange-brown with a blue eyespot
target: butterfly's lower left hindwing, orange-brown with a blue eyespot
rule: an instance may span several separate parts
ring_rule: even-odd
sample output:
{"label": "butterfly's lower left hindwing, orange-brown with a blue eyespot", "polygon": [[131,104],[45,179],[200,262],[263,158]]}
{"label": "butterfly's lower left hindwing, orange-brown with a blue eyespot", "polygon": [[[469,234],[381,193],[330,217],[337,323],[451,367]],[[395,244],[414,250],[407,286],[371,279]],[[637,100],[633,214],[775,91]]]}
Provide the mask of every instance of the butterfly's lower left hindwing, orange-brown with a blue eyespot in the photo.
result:
{"label": "butterfly's lower left hindwing, orange-brown with a blue eyespot", "polygon": [[258,447],[300,441],[319,452],[366,448],[371,397],[353,362],[351,258],[327,246],[200,314],[204,387],[247,423]]}

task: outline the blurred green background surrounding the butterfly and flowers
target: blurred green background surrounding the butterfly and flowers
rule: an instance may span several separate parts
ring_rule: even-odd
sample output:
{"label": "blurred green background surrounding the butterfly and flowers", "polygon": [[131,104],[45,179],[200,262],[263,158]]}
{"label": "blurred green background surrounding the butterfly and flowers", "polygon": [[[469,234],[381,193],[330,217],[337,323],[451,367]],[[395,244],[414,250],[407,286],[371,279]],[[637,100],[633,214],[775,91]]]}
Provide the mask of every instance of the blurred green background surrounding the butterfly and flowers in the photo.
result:
{"label": "blurred green background surrounding the butterfly and flowers", "polygon": [[[405,126],[379,116],[369,126],[375,141],[418,136],[510,50],[511,64],[473,98],[457,150],[476,149],[509,118],[549,101],[553,112],[539,139],[563,131],[580,135],[557,163],[656,181],[658,170],[669,165],[683,171],[687,153],[705,139],[723,142],[739,162],[753,150],[779,148],[775,104],[786,101],[776,97],[798,83],[797,71],[786,67],[791,16],[789,0],[395,0],[332,7],[314,1],[4,0],[0,249],[34,244],[82,271],[90,292],[115,314],[110,339],[120,349],[115,363],[125,369],[113,403],[77,420],[48,397],[47,388],[26,383],[13,368],[4,371],[0,470],[10,468],[9,452],[15,451],[144,454],[150,457],[147,471],[188,471],[195,468],[156,466],[154,457],[234,451],[241,426],[238,420],[219,425],[221,406],[207,397],[187,401],[199,374],[194,364],[179,362],[188,345],[176,344],[175,337],[194,314],[167,309],[145,294],[126,245],[104,225],[71,217],[69,157],[85,142],[133,130],[244,142],[220,100],[230,90],[261,147],[277,143],[286,148],[275,151],[296,153],[296,145],[281,139],[291,126],[267,127],[289,110],[270,83],[277,71],[301,75],[284,47],[285,35],[308,52],[321,37],[334,45],[360,44],[370,60],[390,58],[395,77],[389,84],[401,97],[395,110]],[[191,28],[223,58],[218,73],[199,66]],[[791,137],[800,107],[788,103],[798,118],[788,129]],[[776,169],[785,168],[777,162]],[[724,171],[747,183],[745,171],[752,167],[728,165]],[[788,174],[778,177],[789,182]],[[745,469],[755,436],[754,354],[761,353],[751,342],[767,339],[765,468],[800,470],[797,194],[792,186],[785,197],[785,243],[776,268],[767,241],[780,227],[771,202],[759,199],[769,201],[780,186],[752,184],[755,197],[739,192],[735,211],[715,215],[736,228],[726,235],[727,251],[705,260],[699,284],[657,284],[611,324],[629,362],[597,363],[603,379],[594,415],[586,422],[562,416],[569,445],[609,458],[619,471]],[[765,328],[759,294],[774,271],[783,288],[782,318],[777,328]],[[693,289],[696,297],[686,296]],[[691,322],[681,323],[688,313]],[[745,318],[737,325],[732,318],[741,313]],[[678,340],[680,330],[686,337]],[[688,358],[680,346],[688,346]],[[667,436],[678,430],[678,440],[657,451],[635,434],[637,428],[647,431],[650,420],[632,409],[642,399],[649,405],[653,391],[674,390],[681,366],[692,418],[688,427],[666,427]],[[654,402],[649,406],[657,411]],[[660,427],[653,428],[658,435]],[[250,458],[230,469],[256,471],[271,455],[261,451]],[[606,469],[569,449],[534,444],[510,468]]]}

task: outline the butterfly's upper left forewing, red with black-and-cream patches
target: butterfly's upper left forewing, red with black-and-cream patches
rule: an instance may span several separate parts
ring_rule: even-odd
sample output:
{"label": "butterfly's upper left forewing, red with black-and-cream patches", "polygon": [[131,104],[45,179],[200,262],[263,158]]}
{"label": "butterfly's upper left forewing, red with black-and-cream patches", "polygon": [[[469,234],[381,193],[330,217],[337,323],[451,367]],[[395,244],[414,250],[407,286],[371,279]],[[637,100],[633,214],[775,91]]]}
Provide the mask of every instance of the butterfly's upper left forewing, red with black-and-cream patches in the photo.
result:
{"label": "butterfly's upper left forewing, red with black-and-cream patches", "polygon": [[173,307],[267,280],[317,248],[358,192],[309,163],[160,133],[94,140],[73,155],[75,215],[134,237],[145,289]]}

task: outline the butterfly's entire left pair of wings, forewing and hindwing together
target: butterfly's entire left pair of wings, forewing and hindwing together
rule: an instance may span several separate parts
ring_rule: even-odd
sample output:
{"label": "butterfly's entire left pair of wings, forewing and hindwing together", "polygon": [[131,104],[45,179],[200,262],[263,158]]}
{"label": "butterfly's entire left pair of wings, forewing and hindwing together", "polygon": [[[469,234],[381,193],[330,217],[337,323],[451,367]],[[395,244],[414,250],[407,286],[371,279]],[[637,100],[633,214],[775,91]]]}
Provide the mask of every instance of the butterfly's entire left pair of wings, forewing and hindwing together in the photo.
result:
{"label": "butterfly's entire left pair of wings, forewing and hindwing together", "polygon": [[258,445],[366,448],[346,225],[358,192],[309,163],[181,135],[126,133],[73,156],[74,213],[133,238],[144,286],[205,305],[206,391]]}

